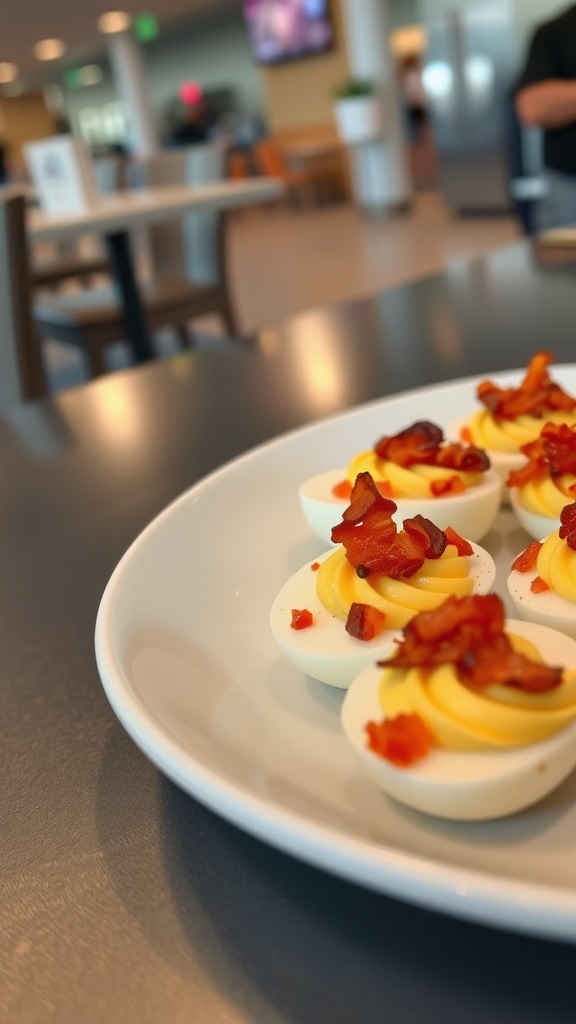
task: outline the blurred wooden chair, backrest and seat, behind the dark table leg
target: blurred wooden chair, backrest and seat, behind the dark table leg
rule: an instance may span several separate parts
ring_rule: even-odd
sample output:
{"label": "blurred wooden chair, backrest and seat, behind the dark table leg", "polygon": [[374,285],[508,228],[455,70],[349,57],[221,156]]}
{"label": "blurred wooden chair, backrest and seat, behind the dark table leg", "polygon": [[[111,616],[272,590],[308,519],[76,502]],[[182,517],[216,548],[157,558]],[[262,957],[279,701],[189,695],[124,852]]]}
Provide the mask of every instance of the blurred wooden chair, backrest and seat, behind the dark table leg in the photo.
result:
{"label": "blurred wooden chair, backrest and seat, behind the dark table leg", "polygon": [[[148,185],[200,183],[223,173],[224,155],[215,146],[160,154],[135,169],[136,183]],[[227,274],[227,228],[228,217],[221,211],[202,211],[149,228],[154,273],[141,290],[151,333],[173,328],[183,347],[191,341],[189,322],[216,313],[227,332],[236,334]],[[43,338],[82,348],[94,377],[107,372],[106,347],[125,338],[122,308],[113,284],[48,296],[36,303],[34,317]]]}

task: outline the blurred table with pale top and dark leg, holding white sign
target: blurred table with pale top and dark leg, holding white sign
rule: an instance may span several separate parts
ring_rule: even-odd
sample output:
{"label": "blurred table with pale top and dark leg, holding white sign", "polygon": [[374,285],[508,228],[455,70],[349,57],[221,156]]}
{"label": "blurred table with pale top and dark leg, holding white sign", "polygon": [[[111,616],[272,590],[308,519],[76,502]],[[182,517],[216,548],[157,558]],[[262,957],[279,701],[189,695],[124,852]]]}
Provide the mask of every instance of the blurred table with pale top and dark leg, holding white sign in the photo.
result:
{"label": "blurred table with pale top and dark leg, holding white sign", "polygon": [[194,212],[268,203],[282,193],[279,180],[263,177],[125,189],[102,196],[82,213],[50,214],[32,209],[28,216],[28,237],[31,242],[70,242],[82,234],[102,236],[122,298],[127,337],[136,360],[146,362],[153,357],[153,348],[132,264],[130,230]]}

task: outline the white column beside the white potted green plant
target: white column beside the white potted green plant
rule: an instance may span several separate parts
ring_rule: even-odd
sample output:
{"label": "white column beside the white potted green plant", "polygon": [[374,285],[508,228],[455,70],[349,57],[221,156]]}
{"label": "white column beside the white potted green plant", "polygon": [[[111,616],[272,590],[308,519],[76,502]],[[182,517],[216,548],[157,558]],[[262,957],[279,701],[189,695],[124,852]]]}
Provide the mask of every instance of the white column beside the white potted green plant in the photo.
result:
{"label": "white column beside the white potted green plant", "polygon": [[390,53],[388,0],[340,0],[351,75],[371,79],[384,105],[382,138],[351,151],[355,194],[361,206],[386,209],[410,202],[406,140]]}

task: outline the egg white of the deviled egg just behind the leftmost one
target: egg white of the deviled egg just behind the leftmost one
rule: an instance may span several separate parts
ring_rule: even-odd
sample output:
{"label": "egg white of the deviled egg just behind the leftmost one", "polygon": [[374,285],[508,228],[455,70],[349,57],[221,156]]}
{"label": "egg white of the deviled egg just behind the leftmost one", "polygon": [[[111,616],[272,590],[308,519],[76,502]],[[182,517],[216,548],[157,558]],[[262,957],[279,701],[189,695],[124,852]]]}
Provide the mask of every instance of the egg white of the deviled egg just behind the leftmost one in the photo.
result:
{"label": "egg white of the deviled egg just behind the leftmost one", "polygon": [[[335,498],[332,487],[345,479],[345,469],[334,469],[313,476],[302,483],[298,492],[300,508],[311,529],[331,544],[331,531],[342,518],[342,512],[349,504]],[[442,498],[393,498],[398,505],[393,519],[402,526],[405,519],[423,515],[436,526],[446,529],[452,526],[460,537],[468,541],[480,541],[490,529],[500,507],[502,484],[494,470],[487,470],[482,483],[468,487],[463,494]]]}

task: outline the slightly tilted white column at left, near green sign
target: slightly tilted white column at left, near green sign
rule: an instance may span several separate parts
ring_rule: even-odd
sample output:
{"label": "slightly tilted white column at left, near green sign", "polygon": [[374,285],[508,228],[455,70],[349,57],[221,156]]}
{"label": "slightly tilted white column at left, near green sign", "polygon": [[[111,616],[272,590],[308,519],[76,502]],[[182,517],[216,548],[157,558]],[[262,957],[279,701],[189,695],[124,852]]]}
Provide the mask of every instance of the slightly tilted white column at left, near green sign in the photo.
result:
{"label": "slightly tilted white column at left, near green sign", "polygon": [[139,43],[130,31],[108,37],[108,52],[118,98],[128,112],[132,153],[150,157],[158,151],[158,126]]}

